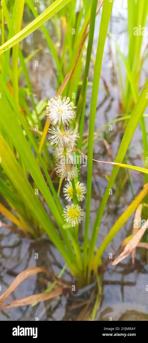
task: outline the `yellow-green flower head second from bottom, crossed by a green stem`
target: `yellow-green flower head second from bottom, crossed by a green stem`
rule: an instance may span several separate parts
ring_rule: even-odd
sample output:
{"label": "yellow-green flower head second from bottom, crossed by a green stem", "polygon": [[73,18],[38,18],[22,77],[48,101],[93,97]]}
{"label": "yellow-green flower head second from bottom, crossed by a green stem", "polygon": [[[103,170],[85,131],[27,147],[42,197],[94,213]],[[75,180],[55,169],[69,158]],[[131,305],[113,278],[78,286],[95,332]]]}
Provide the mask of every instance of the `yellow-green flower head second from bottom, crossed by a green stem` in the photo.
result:
{"label": "yellow-green flower head second from bottom, crossed by a green stem", "polygon": [[[86,193],[86,188],[84,187],[84,184],[79,181],[75,184],[76,187],[76,196],[79,201],[82,201],[84,199],[84,194]],[[66,186],[63,188],[63,192],[65,193],[65,199],[70,201],[73,199],[73,188],[71,182],[68,182]]]}

